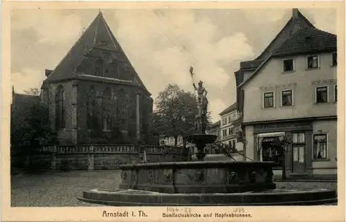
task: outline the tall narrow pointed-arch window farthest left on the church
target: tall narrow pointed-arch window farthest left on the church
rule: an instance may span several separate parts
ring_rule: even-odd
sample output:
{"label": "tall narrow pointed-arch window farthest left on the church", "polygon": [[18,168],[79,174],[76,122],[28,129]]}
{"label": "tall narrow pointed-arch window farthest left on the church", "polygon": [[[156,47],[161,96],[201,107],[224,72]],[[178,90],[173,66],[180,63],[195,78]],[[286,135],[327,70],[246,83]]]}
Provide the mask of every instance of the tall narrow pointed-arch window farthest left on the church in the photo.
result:
{"label": "tall narrow pointed-arch window farthest left on the church", "polygon": [[65,91],[62,85],[55,90],[55,129],[64,129],[66,124],[66,109],[64,107]]}

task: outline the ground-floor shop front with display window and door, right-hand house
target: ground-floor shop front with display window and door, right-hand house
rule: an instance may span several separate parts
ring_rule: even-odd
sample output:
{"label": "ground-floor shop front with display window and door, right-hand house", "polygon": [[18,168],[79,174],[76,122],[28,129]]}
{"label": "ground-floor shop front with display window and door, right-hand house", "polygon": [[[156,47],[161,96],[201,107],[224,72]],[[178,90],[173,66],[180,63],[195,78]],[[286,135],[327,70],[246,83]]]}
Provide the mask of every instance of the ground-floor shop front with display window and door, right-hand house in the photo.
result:
{"label": "ground-floor shop front with display window and door, right-hand house", "polygon": [[[277,163],[275,174],[310,175],[312,165],[312,122],[261,123],[253,125],[254,157],[257,161]],[[277,141],[287,143],[284,146]]]}

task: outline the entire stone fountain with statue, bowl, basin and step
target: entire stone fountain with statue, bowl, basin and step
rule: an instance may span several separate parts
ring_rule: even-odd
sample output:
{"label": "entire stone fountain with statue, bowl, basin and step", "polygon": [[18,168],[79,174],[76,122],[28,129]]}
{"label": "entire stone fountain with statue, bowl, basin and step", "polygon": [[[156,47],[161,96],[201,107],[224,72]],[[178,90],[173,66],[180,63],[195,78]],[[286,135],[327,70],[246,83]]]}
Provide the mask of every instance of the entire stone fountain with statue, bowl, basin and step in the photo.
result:
{"label": "entire stone fountain with statue, bowl, basin and step", "polygon": [[204,161],[204,147],[217,136],[206,134],[208,100],[203,83],[198,92],[195,133],[185,137],[197,147],[198,161],[120,166],[118,188],[93,189],[80,201],[103,205],[319,205],[335,203],[336,191],[276,189],[274,162]]}

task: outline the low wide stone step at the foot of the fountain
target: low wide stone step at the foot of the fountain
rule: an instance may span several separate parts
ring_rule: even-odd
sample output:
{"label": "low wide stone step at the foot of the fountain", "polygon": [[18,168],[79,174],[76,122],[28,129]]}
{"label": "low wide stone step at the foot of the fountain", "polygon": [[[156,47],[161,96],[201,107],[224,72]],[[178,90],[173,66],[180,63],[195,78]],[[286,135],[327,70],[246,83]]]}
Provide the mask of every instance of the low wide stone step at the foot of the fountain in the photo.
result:
{"label": "low wide stone step at the foot of the fountain", "polygon": [[232,194],[164,194],[131,189],[83,192],[80,201],[113,206],[323,205],[337,203],[335,190],[273,189]]}

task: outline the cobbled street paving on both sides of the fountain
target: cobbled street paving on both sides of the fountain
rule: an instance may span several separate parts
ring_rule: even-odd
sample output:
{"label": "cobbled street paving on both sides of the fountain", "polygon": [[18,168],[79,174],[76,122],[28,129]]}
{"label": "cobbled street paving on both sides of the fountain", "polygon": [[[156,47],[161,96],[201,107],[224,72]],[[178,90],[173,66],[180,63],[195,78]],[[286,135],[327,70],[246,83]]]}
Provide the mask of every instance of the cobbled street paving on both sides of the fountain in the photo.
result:
{"label": "cobbled street paving on both sides of the fountain", "polygon": [[[98,206],[78,201],[83,190],[118,187],[120,171],[42,172],[11,178],[12,207]],[[280,182],[277,188],[336,188],[336,183]]]}

